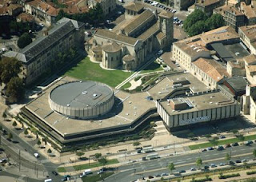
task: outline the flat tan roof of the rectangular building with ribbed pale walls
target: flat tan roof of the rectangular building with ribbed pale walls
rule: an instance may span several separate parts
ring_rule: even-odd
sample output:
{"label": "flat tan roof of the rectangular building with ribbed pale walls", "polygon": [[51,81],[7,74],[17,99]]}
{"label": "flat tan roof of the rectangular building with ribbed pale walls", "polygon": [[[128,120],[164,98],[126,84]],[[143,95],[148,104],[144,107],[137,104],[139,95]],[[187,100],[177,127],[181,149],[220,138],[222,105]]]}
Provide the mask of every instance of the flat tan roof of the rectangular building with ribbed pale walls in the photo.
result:
{"label": "flat tan roof of the rectangular building with ribbed pale walls", "polygon": [[213,109],[222,107],[223,105],[235,105],[234,101],[231,101],[229,97],[226,97],[221,92],[210,92],[204,94],[194,95],[192,97],[182,97],[184,101],[188,101],[191,105],[193,105],[190,109],[184,110],[174,110],[171,108],[169,101],[160,101],[162,107],[166,110],[170,115],[176,115],[181,113],[190,113],[199,110]]}

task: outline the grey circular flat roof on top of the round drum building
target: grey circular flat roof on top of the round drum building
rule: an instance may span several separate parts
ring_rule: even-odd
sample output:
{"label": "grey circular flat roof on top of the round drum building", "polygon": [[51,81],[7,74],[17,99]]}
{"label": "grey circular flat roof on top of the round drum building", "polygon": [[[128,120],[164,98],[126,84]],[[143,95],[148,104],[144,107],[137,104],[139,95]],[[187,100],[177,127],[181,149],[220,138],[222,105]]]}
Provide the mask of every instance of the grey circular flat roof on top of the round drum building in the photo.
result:
{"label": "grey circular flat roof on top of the round drum building", "polygon": [[95,81],[73,81],[58,85],[50,93],[50,99],[58,105],[73,108],[100,105],[113,95],[109,86]]}

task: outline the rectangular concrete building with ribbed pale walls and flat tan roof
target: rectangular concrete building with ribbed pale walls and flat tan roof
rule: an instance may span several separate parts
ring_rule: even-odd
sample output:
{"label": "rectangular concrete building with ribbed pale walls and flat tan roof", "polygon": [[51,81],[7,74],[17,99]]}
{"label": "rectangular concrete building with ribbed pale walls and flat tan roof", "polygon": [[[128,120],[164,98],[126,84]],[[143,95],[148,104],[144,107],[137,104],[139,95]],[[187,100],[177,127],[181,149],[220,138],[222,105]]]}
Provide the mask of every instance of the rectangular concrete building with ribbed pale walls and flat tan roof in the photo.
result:
{"label": "rectangular concrete building with ribbed pale walls and flat tan roof", "polygon": [[216,90],[157,101],[157,109],[169,130],[185,125],[229,119],[240,114],[238,102]]}

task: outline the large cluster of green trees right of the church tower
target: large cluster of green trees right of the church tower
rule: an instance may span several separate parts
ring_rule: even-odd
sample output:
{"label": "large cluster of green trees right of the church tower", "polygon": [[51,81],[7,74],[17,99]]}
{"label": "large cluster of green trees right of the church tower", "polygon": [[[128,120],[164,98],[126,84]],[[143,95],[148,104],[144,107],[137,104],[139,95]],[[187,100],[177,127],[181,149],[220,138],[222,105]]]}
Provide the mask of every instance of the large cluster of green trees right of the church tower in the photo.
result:
{"label": "large cluster of green trees right of the church tower", "polygon": [[184,30],[189,36],[202,34],[209,30],[224,26],[225,22],[220,14],[213,14],[210,17],[202,10],[194,10],[184,21]]}

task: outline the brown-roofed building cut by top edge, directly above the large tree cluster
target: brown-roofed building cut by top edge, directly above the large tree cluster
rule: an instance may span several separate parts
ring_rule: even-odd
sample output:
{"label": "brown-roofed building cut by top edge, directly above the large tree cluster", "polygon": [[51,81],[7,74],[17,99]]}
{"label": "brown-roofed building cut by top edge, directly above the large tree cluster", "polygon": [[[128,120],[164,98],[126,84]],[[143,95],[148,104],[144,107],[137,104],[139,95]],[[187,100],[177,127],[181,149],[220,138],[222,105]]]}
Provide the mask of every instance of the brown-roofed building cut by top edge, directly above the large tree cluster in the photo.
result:
{"label": "brown-roofed building cut by top edge, directly above the large tree cluster", "polygon": [[219,6],[223,6],[225,0],[198,0],[195,5],[195,10],[202,10],[207,15],[213,14],[213,10]]}

